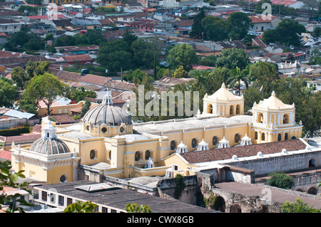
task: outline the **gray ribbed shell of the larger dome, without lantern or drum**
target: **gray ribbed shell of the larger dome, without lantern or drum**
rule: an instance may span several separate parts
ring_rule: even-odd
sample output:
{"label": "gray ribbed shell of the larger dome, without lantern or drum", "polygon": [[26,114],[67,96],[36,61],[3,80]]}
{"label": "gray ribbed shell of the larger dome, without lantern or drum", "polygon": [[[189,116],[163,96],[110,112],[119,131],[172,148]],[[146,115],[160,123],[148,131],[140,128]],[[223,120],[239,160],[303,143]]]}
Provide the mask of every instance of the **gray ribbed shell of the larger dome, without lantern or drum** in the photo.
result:
{"label": "gray ribbed shell of the larger dome, without lantern or drum", "polygon": [[116,107],[113,105],[98,105],[93,107],[91,110],[86,112],[83,116],[83,123],[91,123],[91,125],[121,125],[128,124],[131,125],[131,117],[128,113],[121,109],[121,107]]}

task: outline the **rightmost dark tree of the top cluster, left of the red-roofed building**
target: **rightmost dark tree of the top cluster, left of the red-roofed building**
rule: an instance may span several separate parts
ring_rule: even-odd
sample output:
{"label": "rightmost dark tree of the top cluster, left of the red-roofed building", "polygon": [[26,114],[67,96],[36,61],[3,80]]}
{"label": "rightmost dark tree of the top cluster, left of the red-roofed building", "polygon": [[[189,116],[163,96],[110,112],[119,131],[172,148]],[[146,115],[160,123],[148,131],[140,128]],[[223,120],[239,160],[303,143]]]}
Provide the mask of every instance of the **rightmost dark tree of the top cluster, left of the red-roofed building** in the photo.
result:
{"label": "rightmost dark tree of the top cluster, left of the red-roofed building", "polygon": [[250,17],[243,12],[235,12],[228,17],[230,22],[230,38],[233,40],[242,40],[247,34],[248,29],[253,26]]}

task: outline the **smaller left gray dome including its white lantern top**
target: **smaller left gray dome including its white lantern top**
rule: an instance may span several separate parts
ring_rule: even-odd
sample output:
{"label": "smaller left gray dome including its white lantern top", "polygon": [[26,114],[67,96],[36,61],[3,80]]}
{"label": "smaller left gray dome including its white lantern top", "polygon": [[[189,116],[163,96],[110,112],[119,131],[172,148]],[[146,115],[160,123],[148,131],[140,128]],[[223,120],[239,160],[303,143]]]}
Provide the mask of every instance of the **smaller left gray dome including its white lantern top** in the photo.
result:
{"label": "smaller left gray dome including its white lantern top", "polygon": [[40,154],[52,155],[69,152],[67,145],[56,136],[56,128],[49,121],[44,127],[44,136],[31,144],[30,150]]}

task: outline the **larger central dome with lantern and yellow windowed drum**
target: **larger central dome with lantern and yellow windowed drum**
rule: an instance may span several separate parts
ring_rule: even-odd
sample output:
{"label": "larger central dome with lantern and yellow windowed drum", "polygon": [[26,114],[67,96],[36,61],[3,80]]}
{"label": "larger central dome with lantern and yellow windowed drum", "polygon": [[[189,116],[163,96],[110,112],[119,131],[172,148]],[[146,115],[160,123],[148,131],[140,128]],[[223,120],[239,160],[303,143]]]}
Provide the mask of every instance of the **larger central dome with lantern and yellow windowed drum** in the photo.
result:
{"label": "larger central dome with lantern and yellow windowed drum", "polygon": [[101,105],[93,107],[83,116],[81,132],[100,137],[130,134],[132,120],[128,112],[113,105],[111,90],[107,90]]}

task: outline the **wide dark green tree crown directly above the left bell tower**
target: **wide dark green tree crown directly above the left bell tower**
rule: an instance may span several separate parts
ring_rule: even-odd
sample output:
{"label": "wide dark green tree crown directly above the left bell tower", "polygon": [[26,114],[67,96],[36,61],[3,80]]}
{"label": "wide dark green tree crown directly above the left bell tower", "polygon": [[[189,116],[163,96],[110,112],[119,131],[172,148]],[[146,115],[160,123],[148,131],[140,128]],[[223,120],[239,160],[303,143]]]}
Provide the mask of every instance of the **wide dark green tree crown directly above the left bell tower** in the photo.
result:
{"label": "wide dark green tree crown directly above the left bell tower", "polygon": [[222,51],[221,56],[216,61],[217,67],[222,68],[240,68],[240,70],[244,70],[247,65],[250,65],[250,58],[248,57],[248,53],[238,48],[230,48]]}

